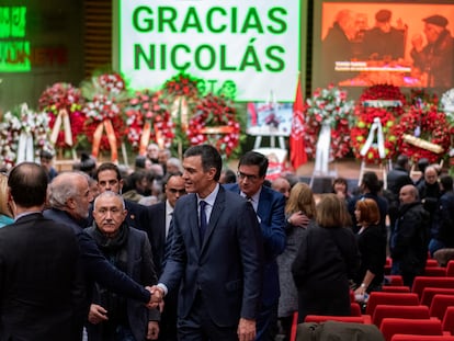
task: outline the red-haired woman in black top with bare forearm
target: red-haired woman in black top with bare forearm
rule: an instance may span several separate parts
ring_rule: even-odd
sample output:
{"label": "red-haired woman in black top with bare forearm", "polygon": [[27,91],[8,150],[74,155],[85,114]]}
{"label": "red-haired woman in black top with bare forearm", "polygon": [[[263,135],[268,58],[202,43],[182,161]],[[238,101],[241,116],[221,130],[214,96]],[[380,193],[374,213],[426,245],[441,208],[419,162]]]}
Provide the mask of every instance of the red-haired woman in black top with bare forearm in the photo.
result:
{"label": "red-haired woman in black top with bare forearm", "polygon": [[379,223],[378,206],[372,198],[356,202],[354,215],[360,226],[357,246],[361,252],[361,268],[354,277],[355,294],[379,291],[386,263],[386,239]]}

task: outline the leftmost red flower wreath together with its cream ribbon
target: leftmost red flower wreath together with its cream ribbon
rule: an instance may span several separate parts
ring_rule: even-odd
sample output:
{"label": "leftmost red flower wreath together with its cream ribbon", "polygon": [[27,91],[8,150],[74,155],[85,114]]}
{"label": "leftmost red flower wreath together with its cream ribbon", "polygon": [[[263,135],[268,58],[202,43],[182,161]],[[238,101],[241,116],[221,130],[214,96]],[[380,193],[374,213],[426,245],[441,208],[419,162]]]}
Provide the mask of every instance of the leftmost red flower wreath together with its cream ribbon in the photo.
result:
{"label": "leftmost red flower wreath together with its cream ribbon", "polygon": [[75,147],[86,121],[80,89],[55,83],[41,94],[38,103],[39,111],[49,117],[52,143],[58,148]]}

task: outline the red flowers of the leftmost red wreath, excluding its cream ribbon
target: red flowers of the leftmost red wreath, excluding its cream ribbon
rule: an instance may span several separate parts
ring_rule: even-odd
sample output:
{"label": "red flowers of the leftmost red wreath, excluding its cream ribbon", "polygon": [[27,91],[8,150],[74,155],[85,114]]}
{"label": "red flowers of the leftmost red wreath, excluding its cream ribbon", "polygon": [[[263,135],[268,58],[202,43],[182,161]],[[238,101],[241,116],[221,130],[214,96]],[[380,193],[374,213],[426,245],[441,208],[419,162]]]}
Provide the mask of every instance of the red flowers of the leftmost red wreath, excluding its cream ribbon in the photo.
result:
{"label": "red flowers of the leftmost red wreath, excluding its cream ribbon", "polygon": [[[60,111],[66,111],[69,116],[72,146],[75,147],[79,134],[83,129],[86,116],[82,114],[82,96],[80,89],[72,87],[69,83],[55,83],[47,88],[39,96],[39,111],[47,113],[49,117],[49,127],[54,129],[55,122]],[[59,129],[57,140],[55,143],[57,148],[70,147],[65,140],[64,128]]]}

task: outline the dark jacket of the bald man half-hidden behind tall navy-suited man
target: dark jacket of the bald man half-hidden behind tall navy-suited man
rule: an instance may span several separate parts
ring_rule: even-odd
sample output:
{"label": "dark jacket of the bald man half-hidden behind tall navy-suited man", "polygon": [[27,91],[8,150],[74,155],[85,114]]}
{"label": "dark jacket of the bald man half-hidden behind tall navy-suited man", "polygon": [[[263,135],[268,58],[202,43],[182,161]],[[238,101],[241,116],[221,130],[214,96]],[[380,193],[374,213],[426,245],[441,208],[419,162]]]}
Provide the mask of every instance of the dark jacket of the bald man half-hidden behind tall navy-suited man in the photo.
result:
{"label": "dark jacket of the bald man half-hidden behind tall navy-suited man", "polygon": [[151,243],[152,260],[156,273],[162,273],[162,259],[166,249],[166,202],[147,207],[148,213],[148,239]]}

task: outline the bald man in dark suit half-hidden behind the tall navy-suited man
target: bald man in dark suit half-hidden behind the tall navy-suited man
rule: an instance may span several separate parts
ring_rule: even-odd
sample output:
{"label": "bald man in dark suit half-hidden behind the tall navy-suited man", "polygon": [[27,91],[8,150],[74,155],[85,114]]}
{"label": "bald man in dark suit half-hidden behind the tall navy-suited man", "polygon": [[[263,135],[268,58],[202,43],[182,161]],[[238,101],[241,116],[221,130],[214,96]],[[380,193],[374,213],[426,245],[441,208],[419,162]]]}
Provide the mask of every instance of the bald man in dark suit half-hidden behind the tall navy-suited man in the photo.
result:
{"label": "bald man in dark suit half-hidden behind the tall navy-suited man", "polygon": [[[168,175],[164,180],[163,191],[166,201],[148,207],[149,214],[149,239],[152,248],[152,259],[158,276],[162,274],[166,261],[166,251],[170,249],[170,239],[173,237],[170,230],[173,208],[177,201],[186,194],[182,173]],[[172,227],[173,228],[173,227]],[[177,341],[177,291],[166,296],[164,309],[159,323],[159,338],[162,341]]]}

